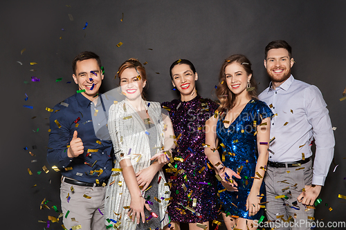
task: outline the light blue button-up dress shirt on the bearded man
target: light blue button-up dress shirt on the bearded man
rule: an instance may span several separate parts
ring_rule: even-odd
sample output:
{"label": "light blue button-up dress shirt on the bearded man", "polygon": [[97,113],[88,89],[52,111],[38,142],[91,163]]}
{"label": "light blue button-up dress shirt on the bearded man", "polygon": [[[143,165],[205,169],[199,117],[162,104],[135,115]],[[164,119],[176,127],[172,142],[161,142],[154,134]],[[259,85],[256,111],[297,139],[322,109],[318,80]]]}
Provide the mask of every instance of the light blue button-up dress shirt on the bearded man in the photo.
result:
{"label": "light blue button-up dress shirt on the bearded man", "polygon": [[327,104],[316,86],[294,79],[293,75],[275,90],[269,85],[259,96],[274,113],[271,120],[269,161],[296,162],[312,155],[315,140],[312,184],[324,185],[334,156],[334,133]]}

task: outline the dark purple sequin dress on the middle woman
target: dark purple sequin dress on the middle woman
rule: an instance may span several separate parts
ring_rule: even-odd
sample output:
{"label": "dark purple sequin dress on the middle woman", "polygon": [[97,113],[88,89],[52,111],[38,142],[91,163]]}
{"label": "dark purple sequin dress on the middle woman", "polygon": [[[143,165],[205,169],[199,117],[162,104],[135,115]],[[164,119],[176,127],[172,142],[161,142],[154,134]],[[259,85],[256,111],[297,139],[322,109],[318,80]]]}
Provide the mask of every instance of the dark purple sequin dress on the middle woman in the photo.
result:
{"label": "dark purple sequin dress on the middle woman", "polygon": [[168,215],[176,222],[216,220],[215,173],[207,166],[208,158],[202,144],[206,142],[206,121],[218,106],[199,95],[189,102],[174,99],[161,105],[169,111],[174,135],[179,137],[171,165],[174,169],[168,167],[168,171],[173,171],[168,173],[172,182]]}

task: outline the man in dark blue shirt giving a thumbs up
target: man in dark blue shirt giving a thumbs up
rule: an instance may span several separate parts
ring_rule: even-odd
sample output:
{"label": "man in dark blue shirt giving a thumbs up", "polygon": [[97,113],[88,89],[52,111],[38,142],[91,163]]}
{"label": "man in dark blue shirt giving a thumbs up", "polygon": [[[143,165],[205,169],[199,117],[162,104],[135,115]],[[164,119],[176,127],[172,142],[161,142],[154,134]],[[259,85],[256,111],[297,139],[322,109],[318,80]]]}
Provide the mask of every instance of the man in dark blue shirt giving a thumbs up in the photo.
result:
{"label": "man in dark blue shirt giving a thumbs up", "polygon": [[106,229],[102,215],[113,148],[109,138],[96,137],[93,124],[97,116],[107,124],[102,116],[108,115],[106,99],[98,94],[104,78],[100,57],[81,52],[72,67],[78,91],[53,108],[47,160],[62,172],[60,199],[66,229]]}

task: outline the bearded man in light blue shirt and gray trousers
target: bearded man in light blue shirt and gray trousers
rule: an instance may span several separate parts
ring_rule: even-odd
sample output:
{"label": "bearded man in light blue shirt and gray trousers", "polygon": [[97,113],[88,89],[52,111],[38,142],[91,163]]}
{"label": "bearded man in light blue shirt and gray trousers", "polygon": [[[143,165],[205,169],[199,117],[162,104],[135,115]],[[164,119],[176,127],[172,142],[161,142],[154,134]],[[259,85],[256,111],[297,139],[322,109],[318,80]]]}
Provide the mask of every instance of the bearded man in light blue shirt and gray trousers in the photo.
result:
{"label": "bearded man in light blue shirt and gray trousers", "polygon": [[[277,229],[310,229],[313,203],[334,155],[327,104],[316,86],[294,79],[291,46],[271,41],[265,49],[271,84],[259,96],[275,114],[271,120],[266,215]],[[311,144],[316,144],[315,160]],[[311,206],[311,207],[309,207]],[[284,222],[284,220],[294,220]]]}

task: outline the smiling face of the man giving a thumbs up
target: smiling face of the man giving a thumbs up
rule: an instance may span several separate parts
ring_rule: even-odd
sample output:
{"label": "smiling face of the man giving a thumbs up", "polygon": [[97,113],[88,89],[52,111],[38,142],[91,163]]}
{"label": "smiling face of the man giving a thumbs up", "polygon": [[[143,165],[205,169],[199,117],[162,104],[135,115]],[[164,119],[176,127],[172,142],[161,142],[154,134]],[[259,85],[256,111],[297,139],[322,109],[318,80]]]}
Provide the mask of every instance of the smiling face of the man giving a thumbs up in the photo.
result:
{"label": "smiling face of the man giving a thumbs up", "polygon": [[85,90],[82,95],[93,101],[98,94],[104,75],[95,59],[86,59],[77,61],[75,74],[72,75],[75,84],[78,84],[79,90]]}

